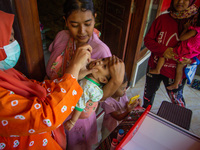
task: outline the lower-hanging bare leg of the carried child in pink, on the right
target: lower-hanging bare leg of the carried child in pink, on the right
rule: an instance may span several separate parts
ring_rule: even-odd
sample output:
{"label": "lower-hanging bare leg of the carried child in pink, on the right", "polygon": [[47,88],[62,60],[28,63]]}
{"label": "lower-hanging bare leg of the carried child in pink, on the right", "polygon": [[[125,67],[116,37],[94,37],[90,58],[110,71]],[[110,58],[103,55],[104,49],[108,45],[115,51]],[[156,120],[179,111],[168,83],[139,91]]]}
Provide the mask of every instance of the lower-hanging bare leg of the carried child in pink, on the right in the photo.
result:
{"label": "lower-hanging bare leg of the carried child in pink, on the right", "polygon": [[182,79],[182,76],[183,76],[183,67],[184,66],[185,65],[181,64],[181,63],[177,64],[176,76],[175,76],[174,83],[167,87],[168,90],[178,89],[178,85],[179,85],[179,83],[180,83],[180,81]]}

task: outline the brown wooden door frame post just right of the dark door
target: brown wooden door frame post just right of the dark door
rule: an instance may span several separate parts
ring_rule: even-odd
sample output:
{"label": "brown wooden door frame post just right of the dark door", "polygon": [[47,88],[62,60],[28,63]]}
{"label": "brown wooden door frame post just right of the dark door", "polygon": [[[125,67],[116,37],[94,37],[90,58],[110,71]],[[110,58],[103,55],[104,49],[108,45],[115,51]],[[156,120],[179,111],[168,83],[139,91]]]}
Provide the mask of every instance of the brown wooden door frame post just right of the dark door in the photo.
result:
{"label": "brown wooden door frame post just right of the dark door", "polygon": [[[141,46],[143,41],[145,25],[147,21],[147,15],[150,7],[150,2],[151,0],[134,1],[135,5],[134,12],[131,20],[129,38],[127,42],[127,50],[124,60],[126,65],[126,73],[129,81],[132,80],[132,76],[135,72],[138,60],[141,59],[148,51],[146,47],[141,50]],[[163,0],[159,1],[157,16],[160,13],[162,2]]]}

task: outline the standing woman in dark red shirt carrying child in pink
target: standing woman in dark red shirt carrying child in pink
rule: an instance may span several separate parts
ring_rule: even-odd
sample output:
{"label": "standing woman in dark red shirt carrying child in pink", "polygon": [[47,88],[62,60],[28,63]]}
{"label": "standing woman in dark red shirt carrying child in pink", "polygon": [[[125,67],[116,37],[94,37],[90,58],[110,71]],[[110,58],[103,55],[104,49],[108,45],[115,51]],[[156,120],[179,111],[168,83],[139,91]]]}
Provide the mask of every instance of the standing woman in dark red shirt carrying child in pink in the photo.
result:
{"label": "standing woman in dark red shirt carrying child in pink", "polygon": [[[151,51],[146,75],[143,107],[152,105],[156,91],[163,81],[167,94],[172,103],[185,107],[183,98],[183,88],[185,85],[185,74],[182,77],[178,89],[168,90],[166,87],[174,82],[177,60],[173,52],[173,47],[179,42],[179,34],[184,29],[184,24],[189,20],[194,22],[194,15],[198,8],[194,5],[195,0],[172,0],[169,13],[160,15],[153,23],[144,38],[145,46]],[[155,69],[159,57],[165,57],[166,61],[160,74],[149,73],[150,69]],[[197,56],[200,59],[200,56]],[[183,58],[183,64],[191,64],[195,60]]]}

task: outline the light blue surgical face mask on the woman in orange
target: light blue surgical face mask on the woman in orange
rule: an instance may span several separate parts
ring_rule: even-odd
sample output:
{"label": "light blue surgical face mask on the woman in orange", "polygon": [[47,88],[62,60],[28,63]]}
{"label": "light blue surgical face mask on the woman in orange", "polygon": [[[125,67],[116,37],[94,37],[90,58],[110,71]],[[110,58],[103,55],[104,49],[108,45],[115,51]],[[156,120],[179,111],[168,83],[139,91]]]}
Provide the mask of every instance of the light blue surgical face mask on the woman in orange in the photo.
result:
{"label": "light blue surgical face mask on the woman in orange", "polygon": [[3,49],[7,57],[6,59],[0,61],[0,70],[7,70],[13,68],[18,62],[21,53],[19,43],[15,40],[9,45],[4,46]]}

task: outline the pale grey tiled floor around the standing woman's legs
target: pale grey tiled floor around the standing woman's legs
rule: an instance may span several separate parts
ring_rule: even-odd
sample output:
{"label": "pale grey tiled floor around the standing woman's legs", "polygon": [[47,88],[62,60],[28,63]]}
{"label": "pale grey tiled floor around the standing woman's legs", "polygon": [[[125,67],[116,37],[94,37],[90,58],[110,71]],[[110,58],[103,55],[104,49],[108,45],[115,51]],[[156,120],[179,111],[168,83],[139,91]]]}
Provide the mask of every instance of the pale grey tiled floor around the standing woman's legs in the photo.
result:
{"label": "pale grey tiled floor around the standing woman's legs", "polygon": [[[195,76],[195,79],[200,80],[200,76]],[[129,88],[127,95],[131,98],[134,95],[140,94],[140,97],[143,97],[145,84],[145,76],[141,78],[133,88]],[[200,136],[200,91],[191,88],[189,85],[184,87],[184,98],[186,101],[186,108],[192,110],[192,120],[190,124],[190,131],[198,136]],[[154,103],[151,108],[151,112],[157,113],[163,100],[169,101],[168,95],[166,93],[163,83],[161,84],[160,89],[157,91]]]}

